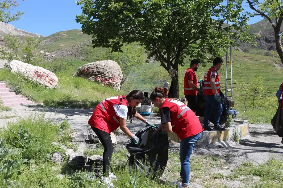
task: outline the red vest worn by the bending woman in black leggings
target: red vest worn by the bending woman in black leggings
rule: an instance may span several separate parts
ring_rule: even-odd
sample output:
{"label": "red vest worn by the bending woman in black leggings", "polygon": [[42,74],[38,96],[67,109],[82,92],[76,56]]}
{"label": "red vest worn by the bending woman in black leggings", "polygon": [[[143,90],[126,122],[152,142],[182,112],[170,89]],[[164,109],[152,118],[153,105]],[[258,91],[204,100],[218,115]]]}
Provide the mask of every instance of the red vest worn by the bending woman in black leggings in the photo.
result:
{"label": "red vest worn by the bending woman in black leggings", "polygon": [[[120,126],[120,117],[116,115],[113,105],[119,104],[121,98],[125,95],[110,97],[101,101],[95,108],[88,124],[91,127],[96,127],[101,131],[110,132],[115,131]],[[128,101],[122,99],[122,104],[128,107]]]}

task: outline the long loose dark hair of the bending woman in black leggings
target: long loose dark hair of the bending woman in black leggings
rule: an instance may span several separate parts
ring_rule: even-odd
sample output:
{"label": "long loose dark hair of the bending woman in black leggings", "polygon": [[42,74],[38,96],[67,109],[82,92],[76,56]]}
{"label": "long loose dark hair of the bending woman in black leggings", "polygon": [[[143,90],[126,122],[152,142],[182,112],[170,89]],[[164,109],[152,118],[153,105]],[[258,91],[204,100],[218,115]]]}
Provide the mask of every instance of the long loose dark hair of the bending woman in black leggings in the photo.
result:
{"label": "long loose dark hair of the bending woman in black leggings", "polygon": [[[132,90],[127,96],[120,98],[120,103],[118,105],[118,109],[120,107],[120,105],[123,102],[123,99],[126,99],[128,101],[128,104],[130,104],[130,101],[132,99],[140,99],[143,100],[144,96],[141,90]],[[134,117],[136,116],[136,107],[132,108],[130,106],[128,106],[128,114],[127,114],[127,120],[130,119],[130,123],[133,122]]]}

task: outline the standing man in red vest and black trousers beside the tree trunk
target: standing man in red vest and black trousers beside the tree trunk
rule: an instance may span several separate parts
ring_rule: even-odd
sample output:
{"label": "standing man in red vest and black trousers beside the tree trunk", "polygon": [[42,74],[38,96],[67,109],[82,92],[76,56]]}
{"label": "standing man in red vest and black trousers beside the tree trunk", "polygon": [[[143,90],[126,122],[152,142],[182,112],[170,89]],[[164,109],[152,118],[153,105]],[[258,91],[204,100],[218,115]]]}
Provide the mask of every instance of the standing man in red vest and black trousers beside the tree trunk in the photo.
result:
{"label": "standing man in red vest and black trousers beside the tree trunk", "polygon": [[184,75],[184,94],[188,101],[188,107],[192,111],[196,111],[196,94],[199,92],[202,94],[202,90],[198,89],[198,80],[196,78],[196,73],[200,66],[200,60],[193,59],[191,61],[190,68],[186,70]]}

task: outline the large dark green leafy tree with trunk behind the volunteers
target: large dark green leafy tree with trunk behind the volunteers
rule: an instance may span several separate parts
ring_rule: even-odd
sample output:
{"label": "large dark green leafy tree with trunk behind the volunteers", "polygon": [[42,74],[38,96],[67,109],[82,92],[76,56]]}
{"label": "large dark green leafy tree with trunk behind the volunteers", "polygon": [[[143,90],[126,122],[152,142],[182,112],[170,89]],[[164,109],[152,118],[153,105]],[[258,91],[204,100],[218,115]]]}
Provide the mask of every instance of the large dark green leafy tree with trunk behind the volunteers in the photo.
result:
{"label": "large dark green leafy tree with trunk behind the volunteers", "polygon": [[[198,58],[205,65],[215,56],[223,56],[226,47],[235,46],[234,39],[252,42],[252,36],[245,32],[248,18],[241,14],[242,0],[229,1],[228,5],[222,2],[80,0],[76,3],[84,6],[76,21],[82,24],[83,33],[93,35],[93,48],[117,52],[124,43],[140,42],[148,58],[154,56],[167,72],[177,72],[185,56]],[[231,27],[225,20],[232,21]],[[178,98],[178,73],[171,76],[171,97]]]}

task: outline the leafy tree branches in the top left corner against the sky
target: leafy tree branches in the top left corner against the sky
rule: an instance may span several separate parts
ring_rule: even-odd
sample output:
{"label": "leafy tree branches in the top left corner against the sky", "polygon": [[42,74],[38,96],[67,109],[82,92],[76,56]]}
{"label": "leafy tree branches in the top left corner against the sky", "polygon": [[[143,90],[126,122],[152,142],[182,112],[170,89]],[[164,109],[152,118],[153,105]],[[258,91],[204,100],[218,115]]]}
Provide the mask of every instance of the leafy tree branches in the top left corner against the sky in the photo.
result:
{"label": "leafy tree branches in the top left corner against the sky", "polygon": [[19,2],[16,0],[0,0],[0,21],[9,23],[21,19],[25,12],[16,11],[15,14],[11,14],[13,8],[18,6]]}

